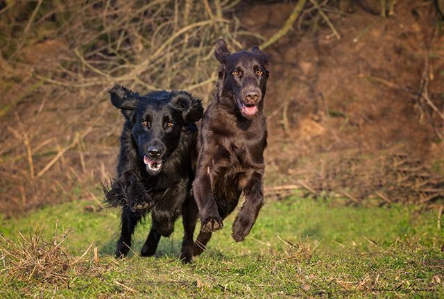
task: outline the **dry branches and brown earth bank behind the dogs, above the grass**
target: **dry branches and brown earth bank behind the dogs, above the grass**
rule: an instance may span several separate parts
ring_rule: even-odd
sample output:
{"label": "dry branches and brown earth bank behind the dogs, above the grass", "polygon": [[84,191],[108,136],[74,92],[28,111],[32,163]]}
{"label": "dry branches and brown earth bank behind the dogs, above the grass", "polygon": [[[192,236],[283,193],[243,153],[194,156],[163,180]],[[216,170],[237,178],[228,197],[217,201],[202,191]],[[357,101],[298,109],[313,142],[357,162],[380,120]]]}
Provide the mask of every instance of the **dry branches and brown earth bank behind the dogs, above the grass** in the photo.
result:
{"label": "dry branches and brown earth bank behind the dogs, above the grass", "polygon": [[[106,91],[114,83],[139,92],[188,89],[206,103],[219,37],[231,49],[269,46],[271,191],[297,185],[352,202],[441,200],[443,35],[432,2],[395,2],[384,4],[384,19],[370,0],[6,1],[1,212],[95,198],[99,181],[114,173],[121,123]],[[426,177],[372,165],[400,148],[415,154],[408,160],[419,157]]]}

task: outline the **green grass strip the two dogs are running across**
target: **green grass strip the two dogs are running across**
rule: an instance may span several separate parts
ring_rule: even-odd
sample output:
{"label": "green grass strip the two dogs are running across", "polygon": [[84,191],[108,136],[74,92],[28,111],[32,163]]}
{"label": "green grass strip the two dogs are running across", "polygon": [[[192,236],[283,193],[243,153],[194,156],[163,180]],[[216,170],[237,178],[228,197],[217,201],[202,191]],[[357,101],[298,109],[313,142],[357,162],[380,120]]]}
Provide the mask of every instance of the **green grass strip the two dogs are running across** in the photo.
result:
{"label": "green grass strip the two dogs are running across", "polygon": [[[46,225],[46,237],[74,228],[65,248],[80,256],[94,242],[83,267],[69,272],[67,284],[42,284],[10,277],[0,259],[0,297],[56,298],[443,298],[443,229],[436,212],[414,207],[344,207],[335,202],[293,196],[269,201],[242,243],[230,236],[234,215],[213,235],[207,251],[183,265],[177,261],[181,221],[169,239],[162,238],[156,257],[139,257],[149,221],[139,225],[135,254],[117,260],[111,255],[117,239],[118,210],[86,212],[91,202],[45,207],[20,219],[0,221],[0,232],[17,239]],[[235,214],[235,213],[234,213]],[[3,267],[3,268],[2,268]],[[123,287],[122,284],[125,286]]]}

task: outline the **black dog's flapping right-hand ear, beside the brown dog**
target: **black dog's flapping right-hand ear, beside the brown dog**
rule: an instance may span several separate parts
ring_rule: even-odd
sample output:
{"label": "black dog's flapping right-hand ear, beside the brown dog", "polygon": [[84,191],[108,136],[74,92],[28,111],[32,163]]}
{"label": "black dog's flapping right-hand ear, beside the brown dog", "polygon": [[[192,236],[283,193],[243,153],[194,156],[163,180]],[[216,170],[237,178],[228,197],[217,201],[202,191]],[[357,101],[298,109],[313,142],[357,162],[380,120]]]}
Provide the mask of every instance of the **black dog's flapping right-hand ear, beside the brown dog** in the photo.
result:
{"label": "black dog's flapping right-hand ear, beside the brown dog", "polygon": [[173,92],[171,105],[173,105],[173,108],[182,111],[185,123],[195,123],[203,116],[202,101],[194,98],[188,92]]}

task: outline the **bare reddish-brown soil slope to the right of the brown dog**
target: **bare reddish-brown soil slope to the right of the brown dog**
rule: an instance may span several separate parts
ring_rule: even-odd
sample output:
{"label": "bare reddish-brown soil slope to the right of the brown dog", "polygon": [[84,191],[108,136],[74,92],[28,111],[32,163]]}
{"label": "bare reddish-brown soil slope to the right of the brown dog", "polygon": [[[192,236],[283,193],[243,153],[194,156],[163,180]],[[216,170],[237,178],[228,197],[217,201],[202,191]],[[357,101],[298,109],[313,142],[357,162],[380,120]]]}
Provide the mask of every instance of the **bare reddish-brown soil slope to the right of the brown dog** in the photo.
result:
{"label": "bare reddish-brown soil slope to the right of the brown dog", "polygon": [[[239,19],[269,36],[293,5],[262,3]],[[306,15],[266,50],[272,58],[268,169],[291,176],[301,164],[312,166],[307,160],[402,151],[438,163],[442,171],[444,144],[415,97],[427,59],[429,94],[443,107],[444,38],[436,33],[432,3],[398,3],[385,19],[361,6],[351,9],[328,15],[340,40],[322,19],[311,33],[315,21]]]}

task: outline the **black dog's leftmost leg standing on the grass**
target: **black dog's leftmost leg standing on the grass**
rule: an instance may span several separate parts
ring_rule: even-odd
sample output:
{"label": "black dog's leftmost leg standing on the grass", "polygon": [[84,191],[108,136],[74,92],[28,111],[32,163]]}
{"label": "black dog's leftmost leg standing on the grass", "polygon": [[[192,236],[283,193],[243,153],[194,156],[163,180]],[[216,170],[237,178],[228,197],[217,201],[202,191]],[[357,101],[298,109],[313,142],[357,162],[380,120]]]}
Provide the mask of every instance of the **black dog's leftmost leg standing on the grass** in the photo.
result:
{"label": "black dog's leftmost leg standing on the grass", "polygon": [[134,229],[142,218],[142,215],[137,212],[132,212],[127,207],[123,207],[121,216],[121,234],[119,241],[117,241],[116,257],[126,257],[131,247],[131,237]]}

